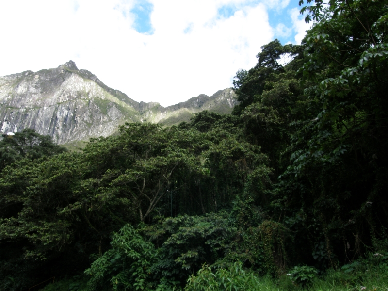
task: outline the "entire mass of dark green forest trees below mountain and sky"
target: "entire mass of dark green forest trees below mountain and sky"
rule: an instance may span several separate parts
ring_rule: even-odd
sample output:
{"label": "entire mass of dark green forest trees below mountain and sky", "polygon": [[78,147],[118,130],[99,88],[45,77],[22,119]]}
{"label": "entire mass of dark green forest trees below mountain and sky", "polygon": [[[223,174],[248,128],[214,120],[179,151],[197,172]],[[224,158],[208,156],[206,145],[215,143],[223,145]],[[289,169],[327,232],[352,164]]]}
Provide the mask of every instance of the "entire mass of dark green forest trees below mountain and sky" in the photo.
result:
{"label": "entire mass of dark green forest trees below mountain and sky", "polygon": [[274,40],[237,72],[232,115],[125,124],[78,152],[30,131],[1,141],[0,289],[387,278],[388,4],[329,2],[302,9],[302,45]]}

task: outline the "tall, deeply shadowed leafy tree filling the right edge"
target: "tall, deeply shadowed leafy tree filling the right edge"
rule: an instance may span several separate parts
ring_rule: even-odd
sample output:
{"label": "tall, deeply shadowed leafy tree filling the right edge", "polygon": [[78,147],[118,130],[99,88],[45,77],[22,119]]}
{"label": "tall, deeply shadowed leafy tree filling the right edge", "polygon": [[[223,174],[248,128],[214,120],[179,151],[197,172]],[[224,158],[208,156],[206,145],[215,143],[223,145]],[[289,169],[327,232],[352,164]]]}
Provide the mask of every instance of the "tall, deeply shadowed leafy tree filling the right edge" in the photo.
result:
{"label": "tall, deeply shadowed leafy tree filling the right edge", "polygon": [[[310,3],[312,1],[307,1]],[[303,3],[303,1],[301,1]],[[304,80],[315,116],[299,123],[277,202],[297,241],[335,266],[386,234],[388,64],[386,1],[316,1],[305,37]],[[277,205],[274,202],[274,205]],[[364,231],[360,231],[364,229]],[[343,244],[349,246],[343,248]],[[322,263],[322,261],[320,263]]]}

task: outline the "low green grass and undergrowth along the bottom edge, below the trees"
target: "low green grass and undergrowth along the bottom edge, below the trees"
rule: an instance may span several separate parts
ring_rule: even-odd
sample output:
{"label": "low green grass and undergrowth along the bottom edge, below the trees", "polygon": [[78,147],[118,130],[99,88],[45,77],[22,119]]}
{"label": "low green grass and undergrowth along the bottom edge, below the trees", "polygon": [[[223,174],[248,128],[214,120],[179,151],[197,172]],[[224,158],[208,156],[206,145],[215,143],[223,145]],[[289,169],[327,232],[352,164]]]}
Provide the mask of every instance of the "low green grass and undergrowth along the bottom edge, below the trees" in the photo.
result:
{"label": "low green grass and undergrowth along the bottom edge, below the trees", "polygon": [[[308,277],[308,280],[298,284],[291,274],[278,278],[259,277],[254,272],[244,269],[241,262],[235,262],[228,267],[211,268],[204,265],[196,275],[191,275],[185,290],[224,291],[235,287],[237,290],[249,291],[386,291],[388,289],[387,256],[371,254],[365,259],[357,259],[338,270],[328,270],[325,275],[314,275],[310,278],[312,267],[295,268],[298,275]],[[294,270],[294,269],[293,269]],[[307,270],[307,272],[305,272]],[[315,273],[315,272],[314,272]],[[44,291],[87,291],[87,277],[74,276],[49,284]],[[163,281],[154,290],[182,290],[173,288]]]}

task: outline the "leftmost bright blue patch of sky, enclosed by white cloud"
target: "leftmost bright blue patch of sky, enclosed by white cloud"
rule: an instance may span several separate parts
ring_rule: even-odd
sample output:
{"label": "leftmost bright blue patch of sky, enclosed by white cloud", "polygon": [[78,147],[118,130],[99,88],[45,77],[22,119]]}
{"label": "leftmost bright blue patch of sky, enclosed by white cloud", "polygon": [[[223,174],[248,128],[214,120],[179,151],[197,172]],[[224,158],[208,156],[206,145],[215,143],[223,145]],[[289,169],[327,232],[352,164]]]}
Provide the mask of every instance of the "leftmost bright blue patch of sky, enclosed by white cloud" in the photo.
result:
{"label": "leftmost bright blue patch of sky, enclosed by white cloud", "polygon": [[133,22],[133,28],[144,34],[153,34],[154,29],[151,25],[151,13],[154,9],[154,5],[147,1],[138,1],[131,9],[131,13],[135,16]]}

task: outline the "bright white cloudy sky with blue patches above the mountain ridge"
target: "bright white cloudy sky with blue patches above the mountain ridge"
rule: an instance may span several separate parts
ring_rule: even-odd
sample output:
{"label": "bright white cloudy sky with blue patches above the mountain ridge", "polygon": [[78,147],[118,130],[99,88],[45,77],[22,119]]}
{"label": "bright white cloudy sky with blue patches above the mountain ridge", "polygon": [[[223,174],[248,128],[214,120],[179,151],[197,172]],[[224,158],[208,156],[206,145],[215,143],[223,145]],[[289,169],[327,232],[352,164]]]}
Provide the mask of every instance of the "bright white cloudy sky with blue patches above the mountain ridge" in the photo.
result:
{"label": "bright white cloudy sky with blue patches above the mountain ridge", "polygon": [[72,60],[130,98],[169,106],[232,87],[260,47],[300,44],[299,0],[0,0],[0,76]]}

